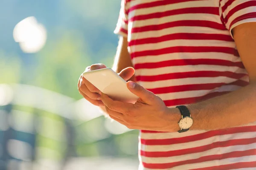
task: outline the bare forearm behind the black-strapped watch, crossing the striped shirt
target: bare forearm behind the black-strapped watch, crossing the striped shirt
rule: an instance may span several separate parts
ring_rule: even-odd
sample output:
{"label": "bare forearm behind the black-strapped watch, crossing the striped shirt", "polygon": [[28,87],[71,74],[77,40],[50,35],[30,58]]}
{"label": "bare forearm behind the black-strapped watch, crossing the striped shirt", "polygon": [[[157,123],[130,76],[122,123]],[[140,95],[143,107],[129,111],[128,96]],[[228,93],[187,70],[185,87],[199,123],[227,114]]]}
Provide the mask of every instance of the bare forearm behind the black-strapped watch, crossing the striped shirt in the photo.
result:
{"label": "bare forearm behind the black-strapped watch, crossing the striped shirt", "polygon": [[237,91],[188,106],[191,130],[213,130],[256,121],[256,83]]}

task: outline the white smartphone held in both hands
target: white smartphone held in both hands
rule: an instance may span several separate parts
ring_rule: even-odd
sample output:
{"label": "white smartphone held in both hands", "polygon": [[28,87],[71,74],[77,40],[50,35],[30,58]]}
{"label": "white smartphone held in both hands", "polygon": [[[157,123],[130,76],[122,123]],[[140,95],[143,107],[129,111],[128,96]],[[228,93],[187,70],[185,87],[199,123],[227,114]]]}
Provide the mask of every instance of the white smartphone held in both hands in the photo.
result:
{"label": "white smartphone held in both hands", "polygon": [[129,91],[126,81],[111,68],[84,72],[83,77],[113,100],[135,103],[139,99]]}

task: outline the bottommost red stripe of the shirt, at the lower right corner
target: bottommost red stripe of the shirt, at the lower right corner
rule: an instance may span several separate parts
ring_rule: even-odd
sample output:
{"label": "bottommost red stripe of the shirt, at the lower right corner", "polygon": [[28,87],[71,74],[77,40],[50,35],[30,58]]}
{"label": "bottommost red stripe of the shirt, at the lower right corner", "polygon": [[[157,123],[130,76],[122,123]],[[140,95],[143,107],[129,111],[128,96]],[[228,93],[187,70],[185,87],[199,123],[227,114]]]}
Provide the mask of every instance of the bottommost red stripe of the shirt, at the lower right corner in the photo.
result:
{"label": "bottommost red stripe of the shirt, at the lower right corner", "polygon": [[241,168],[250,168],[256,167],[256,161],[251,162],[238,162],[233,164],[225,164],[213,167],[203,167],[203,168],[196,168],[191,170],[234,170],[234,169],[241,169]]}

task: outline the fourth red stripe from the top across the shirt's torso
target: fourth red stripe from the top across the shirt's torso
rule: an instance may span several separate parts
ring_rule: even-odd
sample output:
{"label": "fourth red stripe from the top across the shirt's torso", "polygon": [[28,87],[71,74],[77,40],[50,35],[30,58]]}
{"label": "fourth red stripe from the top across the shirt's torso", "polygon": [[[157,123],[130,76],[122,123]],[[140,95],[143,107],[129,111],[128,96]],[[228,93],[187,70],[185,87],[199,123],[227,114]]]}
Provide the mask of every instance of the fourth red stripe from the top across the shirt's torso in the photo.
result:
{"label": "fourth red stripe from the top across the shirt's torso", "polygon": [[161,37],[152,37],[152,38],[144,38],[131,40],[129,45],[139,45],[139,44],[150,44],[157,43],[169,40],[221,40],[221,41],[232,41],[233,39],[230,35],[223,34],[202,34],[202,33],[175,33],[164,35]]}

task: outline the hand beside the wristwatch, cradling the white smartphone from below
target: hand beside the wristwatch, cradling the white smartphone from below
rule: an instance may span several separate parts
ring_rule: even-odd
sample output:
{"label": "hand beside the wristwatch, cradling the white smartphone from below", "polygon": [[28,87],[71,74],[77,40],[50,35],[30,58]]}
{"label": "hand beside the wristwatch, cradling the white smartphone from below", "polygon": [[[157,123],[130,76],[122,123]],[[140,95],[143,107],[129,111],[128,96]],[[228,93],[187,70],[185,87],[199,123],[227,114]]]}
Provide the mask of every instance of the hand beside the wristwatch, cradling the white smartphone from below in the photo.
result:
{"label": "hand beside the wristwatch, cradling the white smartphone from below", "polygon": [[[128,89],[140,99],[135,104],[113,101],[102,94],[102,102],[109,116],[130,129],[173,131],[179,130],[180,113],[177,108],[170,111],[163,100],[139,84],[129,81]],[[173,122],[174,119],[176,122]]]}

